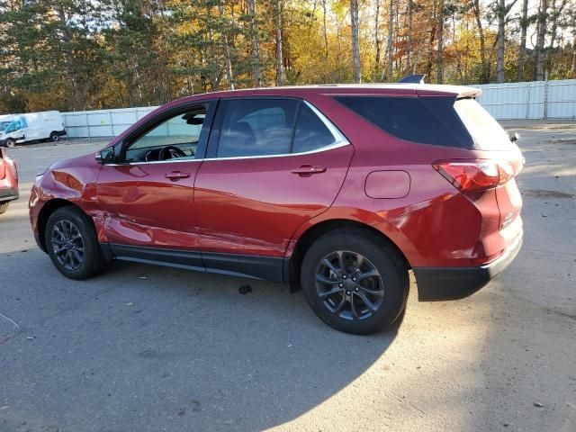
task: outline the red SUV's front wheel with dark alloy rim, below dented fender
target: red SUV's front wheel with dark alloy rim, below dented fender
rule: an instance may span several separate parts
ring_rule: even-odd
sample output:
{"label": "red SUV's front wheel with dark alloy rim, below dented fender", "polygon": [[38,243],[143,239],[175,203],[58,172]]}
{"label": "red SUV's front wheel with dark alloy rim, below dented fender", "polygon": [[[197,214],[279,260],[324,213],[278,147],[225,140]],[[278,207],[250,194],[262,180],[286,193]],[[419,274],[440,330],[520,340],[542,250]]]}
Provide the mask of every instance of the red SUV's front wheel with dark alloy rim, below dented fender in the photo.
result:
{"label": "red SUV's front wheel with dark alloy rim, below dented fender", "polygon": [[52,264],[70,279],[88,279],[105,268],[92,220],[77,207],[61,207],[50,215],[44,241]]}

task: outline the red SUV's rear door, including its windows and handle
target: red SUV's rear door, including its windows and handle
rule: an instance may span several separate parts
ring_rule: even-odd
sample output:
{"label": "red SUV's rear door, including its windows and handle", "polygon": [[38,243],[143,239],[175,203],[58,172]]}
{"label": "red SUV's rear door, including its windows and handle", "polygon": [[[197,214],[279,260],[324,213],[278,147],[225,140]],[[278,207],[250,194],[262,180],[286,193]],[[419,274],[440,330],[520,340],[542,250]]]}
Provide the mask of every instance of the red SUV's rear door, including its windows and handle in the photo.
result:
{"label": "red SUV's rear door, including its windows and handle", "polygon": [[334,202],[354,148],[295,99],[222,101],[214,127],[194,197],[205,266],[227,259],[214,254],[284,257],[296,229]]}

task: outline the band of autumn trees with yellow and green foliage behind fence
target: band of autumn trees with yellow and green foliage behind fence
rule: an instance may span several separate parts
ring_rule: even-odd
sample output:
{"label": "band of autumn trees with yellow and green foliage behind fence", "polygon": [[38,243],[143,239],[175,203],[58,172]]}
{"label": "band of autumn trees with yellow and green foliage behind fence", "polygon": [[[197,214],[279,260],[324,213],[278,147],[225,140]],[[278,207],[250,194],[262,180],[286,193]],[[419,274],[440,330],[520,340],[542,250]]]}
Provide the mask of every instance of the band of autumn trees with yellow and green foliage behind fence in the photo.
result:
{"label": "band of autumn trees with yellow and green foliage behind fence", "polygon": [[0,112],[411,73],[568,78],[575,45],[574,0],[0,0]]}

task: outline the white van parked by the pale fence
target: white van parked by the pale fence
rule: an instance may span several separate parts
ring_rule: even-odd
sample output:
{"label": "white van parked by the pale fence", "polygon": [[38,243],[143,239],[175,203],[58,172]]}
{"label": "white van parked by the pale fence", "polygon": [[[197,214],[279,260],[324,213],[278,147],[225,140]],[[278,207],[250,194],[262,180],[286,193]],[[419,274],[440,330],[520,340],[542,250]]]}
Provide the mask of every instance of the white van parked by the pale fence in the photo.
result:
{"label": "white van parked by the pale fence", "polygon": [[[42,139],[58,141],[66,135],[59,111],[13,114],[9,120],[4,130],[0,126],[0,146],[14,147],[16,144]],[[4,123],[4,120],[0,120],[0,125]]]}

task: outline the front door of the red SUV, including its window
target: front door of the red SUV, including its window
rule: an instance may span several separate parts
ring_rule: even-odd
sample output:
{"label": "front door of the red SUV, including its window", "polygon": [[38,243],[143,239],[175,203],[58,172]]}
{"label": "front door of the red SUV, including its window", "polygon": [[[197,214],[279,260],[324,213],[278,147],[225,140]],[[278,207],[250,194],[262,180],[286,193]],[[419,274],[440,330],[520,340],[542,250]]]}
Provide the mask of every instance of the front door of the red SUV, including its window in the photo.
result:
{"label": "front door of the red SUV, including its window", "polygon": [[[214,104],[152,122],[125,141],[120,163],[103,166],[98,202],[115,256],[174,262],[179,259],[175,250],[198,248],[193,184]],[[185,258],[183,264],[202,266],[200,253],[192,261]]]}

